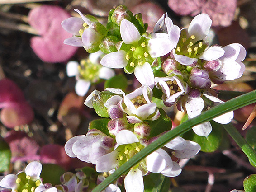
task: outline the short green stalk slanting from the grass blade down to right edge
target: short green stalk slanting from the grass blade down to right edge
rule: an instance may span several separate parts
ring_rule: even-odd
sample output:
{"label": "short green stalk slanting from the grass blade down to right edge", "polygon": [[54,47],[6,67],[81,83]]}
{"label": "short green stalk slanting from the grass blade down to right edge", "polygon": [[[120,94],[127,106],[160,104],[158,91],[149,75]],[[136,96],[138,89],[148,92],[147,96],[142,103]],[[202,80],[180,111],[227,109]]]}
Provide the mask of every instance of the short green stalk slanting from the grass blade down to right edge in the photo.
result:
{"label": "short green stalk slanting from the grass blade down to right edge", "polygon": [[235,140],[235,142],[242,149],[244,154],[256,166],[256,152],[251,148],[251,145],[249,145],[247,141],[237,131],[237,128],[233,126],[232,123],[228,123],[222,126],[228,132],[228,134],[232,137],[232,139]]}

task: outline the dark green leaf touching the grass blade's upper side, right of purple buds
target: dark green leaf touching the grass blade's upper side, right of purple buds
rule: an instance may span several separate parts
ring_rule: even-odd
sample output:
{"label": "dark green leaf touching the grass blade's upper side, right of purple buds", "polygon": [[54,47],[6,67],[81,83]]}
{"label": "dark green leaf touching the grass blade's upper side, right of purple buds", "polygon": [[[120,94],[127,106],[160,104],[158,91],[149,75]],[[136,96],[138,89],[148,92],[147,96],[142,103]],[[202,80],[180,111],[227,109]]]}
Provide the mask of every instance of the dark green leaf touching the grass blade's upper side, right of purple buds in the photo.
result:
{"label": "dark green leaf touching the grass blade's upper side, right of purple buds", "polygon": [[166,112],[158,108],[160,111],[160,117],[155,121],[147,121],[149,126],[151,127],[151,132],[149,135],[149,138],[159,135],[160,133],[163,133],[164,131],[171,130],[172,122],[170,117],[167,116]]}

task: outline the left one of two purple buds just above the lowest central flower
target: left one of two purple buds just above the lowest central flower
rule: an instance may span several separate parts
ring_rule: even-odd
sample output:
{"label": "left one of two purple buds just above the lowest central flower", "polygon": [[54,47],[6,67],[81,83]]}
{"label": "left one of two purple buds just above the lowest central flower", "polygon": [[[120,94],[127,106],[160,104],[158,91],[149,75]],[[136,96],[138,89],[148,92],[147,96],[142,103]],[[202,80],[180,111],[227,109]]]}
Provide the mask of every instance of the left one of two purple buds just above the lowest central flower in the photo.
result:
{"label": "left one of two purple buds just above the lowest central flower", "polygon": [[109,133],[113,136],[116,136],[116,134],[121,130],[131,130],[132,128],[133,125],[128,122],[126,117],[112,119],[108,122]]}

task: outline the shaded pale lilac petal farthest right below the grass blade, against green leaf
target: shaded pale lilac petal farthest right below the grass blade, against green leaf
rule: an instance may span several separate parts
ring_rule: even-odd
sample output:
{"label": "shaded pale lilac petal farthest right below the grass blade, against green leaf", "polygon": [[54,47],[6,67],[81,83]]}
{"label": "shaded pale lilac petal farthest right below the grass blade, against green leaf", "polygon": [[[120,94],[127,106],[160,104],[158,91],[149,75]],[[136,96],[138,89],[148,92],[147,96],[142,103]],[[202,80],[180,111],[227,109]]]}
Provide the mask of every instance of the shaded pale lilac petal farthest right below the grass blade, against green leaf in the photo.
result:
{"label": "shaded pale lilac petal farthest right below the grass blade, against green leaf", "polygon": [[196,142],[187,140],[186,146],[184,150],[175,150],[175,157],[180,159],[188,159],[194,157],[199,150],[201,150],[201,147]]}

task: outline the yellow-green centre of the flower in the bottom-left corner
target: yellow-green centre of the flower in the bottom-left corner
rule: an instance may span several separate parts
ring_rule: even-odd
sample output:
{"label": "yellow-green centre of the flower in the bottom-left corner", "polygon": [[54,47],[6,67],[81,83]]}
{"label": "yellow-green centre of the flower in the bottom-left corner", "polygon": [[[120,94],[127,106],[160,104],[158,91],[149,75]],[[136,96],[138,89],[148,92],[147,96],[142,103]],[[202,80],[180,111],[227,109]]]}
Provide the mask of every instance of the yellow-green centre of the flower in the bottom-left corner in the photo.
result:
{"label": "yellow-green centre of the flower in the bottom-left corner", "polygon": [[42,183],[40,179],[33,180],[29,175],[26,175],[25,172],[21,172],[16,179],[18,184],[17,192],[34,192],[35,189]]}

